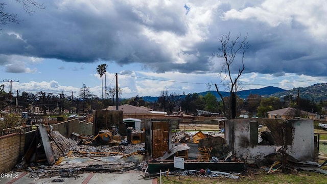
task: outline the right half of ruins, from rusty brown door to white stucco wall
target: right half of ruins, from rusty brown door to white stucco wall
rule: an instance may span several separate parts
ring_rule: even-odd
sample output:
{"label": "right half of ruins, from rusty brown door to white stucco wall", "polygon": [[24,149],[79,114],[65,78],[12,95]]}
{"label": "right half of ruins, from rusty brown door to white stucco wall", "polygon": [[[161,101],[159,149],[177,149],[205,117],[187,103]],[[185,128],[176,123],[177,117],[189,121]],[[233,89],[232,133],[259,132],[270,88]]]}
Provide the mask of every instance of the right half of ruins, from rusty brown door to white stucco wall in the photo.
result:
{"label": "right half of ruins, from rusty brown door to white stucco wall", "polygon": [[[205,167],[212,171],[242,172],[246,164],[267,168],[270,172],[276,168],[269,167],[281,167],[283,171],[292,168],[327,174],[317,164],[313,120],[229,120],[222,136],[201,131],[170,133],[171,122],[167,121],[146,122],[145,148],[151,159],[149,173],[160,169],[177,170],[173,159],[178,156],[184,158],[187,170]],[[267,127],[264,131],[259,131],[261,124]]]}

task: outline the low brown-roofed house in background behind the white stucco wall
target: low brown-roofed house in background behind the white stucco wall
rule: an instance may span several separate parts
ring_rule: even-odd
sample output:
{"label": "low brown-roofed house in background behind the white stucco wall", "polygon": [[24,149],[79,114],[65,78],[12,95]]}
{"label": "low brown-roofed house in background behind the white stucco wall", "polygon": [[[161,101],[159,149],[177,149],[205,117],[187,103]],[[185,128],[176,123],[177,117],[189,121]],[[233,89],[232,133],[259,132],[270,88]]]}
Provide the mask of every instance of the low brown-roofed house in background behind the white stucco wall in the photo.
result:
{"label": "low brown-roofed house in background behind the white stucco wall", "polygon": [[301,118],[308,118],[308,119],[315,119],[316,114],[311,113],[308,111],[304,110],[299,110],[296,108],[282,108],[282,109],[277,109],[277,110],[272,110],[268,111],[268,118],[269,119],[283,119],[283,120],[288,120],[296,117],[301,117]]}

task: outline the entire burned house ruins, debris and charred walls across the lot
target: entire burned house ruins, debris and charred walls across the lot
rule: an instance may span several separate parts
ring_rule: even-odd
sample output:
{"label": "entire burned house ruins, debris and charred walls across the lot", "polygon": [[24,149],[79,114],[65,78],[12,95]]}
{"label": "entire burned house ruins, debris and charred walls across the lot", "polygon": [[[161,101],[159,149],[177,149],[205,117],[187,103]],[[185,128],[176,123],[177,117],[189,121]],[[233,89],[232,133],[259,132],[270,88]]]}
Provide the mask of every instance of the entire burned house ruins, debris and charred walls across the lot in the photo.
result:
{"label": "entire burned house ruins, debris and charred walls across the lot", "polygon": [[[249,166],[268,173],[292,168],[327,174],[316,163],[312,120],[237,119],[226,121],[223,131],[208,132],[181,130],[179,125],[172,129],[172,119],[126,124],[121,114],[114,116],[99,112],[91,135],[72,132],[67,137],[39,124],[16,169],[32,177],[139,170],[148,179],[159,172],[180,174],[177,157],[186,175],[239,178]],[[259,124],[267,128],[259,131]]]}

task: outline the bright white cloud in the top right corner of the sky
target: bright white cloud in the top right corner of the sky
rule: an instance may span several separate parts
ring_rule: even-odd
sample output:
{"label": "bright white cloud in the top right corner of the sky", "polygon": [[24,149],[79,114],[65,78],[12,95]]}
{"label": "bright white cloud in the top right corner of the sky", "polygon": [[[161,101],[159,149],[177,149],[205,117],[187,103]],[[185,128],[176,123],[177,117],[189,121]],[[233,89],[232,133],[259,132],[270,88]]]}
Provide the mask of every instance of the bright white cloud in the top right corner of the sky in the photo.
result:
{"label": "bright white cloud in the top right corner of the sky", "polygon": [[[327,41],[327,28],[323,17],[327,13],[325,1],[282,1],[267,0],[262,4],[243,9],[231,9],[224,13],[224,20],[254,19],[277,27],[280,24],[305,26],[313,38],[320,37]],[[293,25],[292,25],[293,24]]]}

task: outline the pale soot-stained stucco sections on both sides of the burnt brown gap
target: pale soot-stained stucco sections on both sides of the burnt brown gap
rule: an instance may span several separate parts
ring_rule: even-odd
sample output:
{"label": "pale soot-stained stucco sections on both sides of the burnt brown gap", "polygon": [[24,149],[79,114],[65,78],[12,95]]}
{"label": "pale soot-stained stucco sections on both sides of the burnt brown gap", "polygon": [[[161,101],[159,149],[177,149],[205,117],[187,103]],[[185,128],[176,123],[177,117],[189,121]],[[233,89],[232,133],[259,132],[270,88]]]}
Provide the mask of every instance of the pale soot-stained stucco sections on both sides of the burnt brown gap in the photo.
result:
{"label": "pale soot-stained stucco sections on both sides of the burnt brown gap", "polygon": [[[314,161],[313,120],[289,121],[294,129],[292,145],[288,146],[287,153],[300,161]],[[246,163],[263,160],[265,155],[274,153],[278,146],[251,143],[250,120],[229,120],[226,123],[225,137],[230,150]]]}

